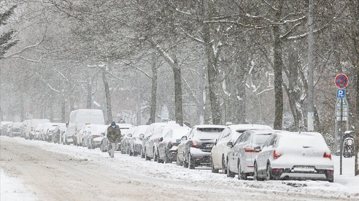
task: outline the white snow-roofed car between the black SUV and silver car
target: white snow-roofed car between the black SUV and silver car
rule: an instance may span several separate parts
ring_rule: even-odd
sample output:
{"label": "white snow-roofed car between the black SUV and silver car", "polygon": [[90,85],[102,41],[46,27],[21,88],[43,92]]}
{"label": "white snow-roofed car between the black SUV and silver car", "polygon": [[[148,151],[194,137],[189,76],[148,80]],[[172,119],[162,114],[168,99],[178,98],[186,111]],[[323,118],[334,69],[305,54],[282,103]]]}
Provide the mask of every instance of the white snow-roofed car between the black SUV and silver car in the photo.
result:
{"label": "white snow-roofed car between the black SUV and silver car", "polygon": [[270,126],[266,125],[257,125],[257,124],[238,124],[227,126],[221,133],[221,135],[216,140],[216,145],[214,145],[211,151],[211,171],[212,173],[218,173],[219,169],[222,169],[222,173],[227,173],[227,152],[230,148],[227,146],[227,142],[232,142],[234,144],[235,140],[241,134],[247,130],[255,129],[272,129]]}

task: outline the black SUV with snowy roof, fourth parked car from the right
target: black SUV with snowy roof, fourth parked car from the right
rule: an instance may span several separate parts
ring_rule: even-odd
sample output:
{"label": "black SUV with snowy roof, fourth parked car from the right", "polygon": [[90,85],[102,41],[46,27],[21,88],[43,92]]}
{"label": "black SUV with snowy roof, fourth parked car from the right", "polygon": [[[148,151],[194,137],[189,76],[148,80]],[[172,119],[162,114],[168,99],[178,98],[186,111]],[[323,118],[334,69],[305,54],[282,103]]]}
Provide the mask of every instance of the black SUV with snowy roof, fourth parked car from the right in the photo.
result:
{"label": "black SUV with snowy roof, fourth parked car from the right", "polygon": [[188,137],[183,136],[178,145],[177,164],[194,169],[198,165],[210,165],[210,152],[226,126],[197,125],[189,132]]}

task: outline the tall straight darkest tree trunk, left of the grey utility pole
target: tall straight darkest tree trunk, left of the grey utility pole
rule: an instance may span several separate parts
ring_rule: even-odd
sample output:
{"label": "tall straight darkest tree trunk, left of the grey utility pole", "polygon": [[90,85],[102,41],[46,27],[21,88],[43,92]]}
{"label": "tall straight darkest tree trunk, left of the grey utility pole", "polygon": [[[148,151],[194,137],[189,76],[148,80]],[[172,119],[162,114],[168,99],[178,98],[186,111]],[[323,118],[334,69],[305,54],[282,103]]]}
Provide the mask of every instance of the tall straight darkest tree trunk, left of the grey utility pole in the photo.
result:
{"label": "tall straight darkest tree trunk, left of the grey utility pole", "polygon": [[[283,2],[279,2],[278,10],[275,14],[276,20],[280,20],[281,8]],[[283,123],[283,91],[282,91],[282,41],[280,36],[280,27],[273,26],[274,35],[274,98],[275,98],[275,112],[274,112],[274,129],[281,130]]]}

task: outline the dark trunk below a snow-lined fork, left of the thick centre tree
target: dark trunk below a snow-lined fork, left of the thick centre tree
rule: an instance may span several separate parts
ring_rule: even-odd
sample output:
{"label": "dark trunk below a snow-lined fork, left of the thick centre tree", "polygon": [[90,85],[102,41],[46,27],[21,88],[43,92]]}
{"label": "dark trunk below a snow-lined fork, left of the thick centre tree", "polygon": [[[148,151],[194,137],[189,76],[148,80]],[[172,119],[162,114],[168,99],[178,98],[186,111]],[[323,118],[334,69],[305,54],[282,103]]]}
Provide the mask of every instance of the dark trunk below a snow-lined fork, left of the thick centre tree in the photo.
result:
{"label": "dark trunk below a snow-lined fork, left of the thick centre tree", "polygon": [[179,67],[173,67],[173,76],[175,79],[175,119],[176,123],[183,125],[183,113],[182,113],[182,76],[181,69]]}

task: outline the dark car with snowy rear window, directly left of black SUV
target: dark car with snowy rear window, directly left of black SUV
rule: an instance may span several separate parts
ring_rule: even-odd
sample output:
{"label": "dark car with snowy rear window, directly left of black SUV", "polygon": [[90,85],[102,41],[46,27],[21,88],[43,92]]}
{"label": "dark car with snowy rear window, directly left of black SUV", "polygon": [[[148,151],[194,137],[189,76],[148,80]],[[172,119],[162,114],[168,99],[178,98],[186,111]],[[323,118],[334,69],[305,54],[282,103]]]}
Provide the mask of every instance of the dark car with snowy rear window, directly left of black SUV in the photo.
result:
{"label": "dark car with snowy rear window, directly left of black SUV", "polygon": [[171,128],[158,143],[158,161],[172,163],[177,160],[177,146],[181,143],[182,136],[189,132],[189,127]]}

